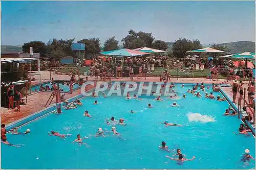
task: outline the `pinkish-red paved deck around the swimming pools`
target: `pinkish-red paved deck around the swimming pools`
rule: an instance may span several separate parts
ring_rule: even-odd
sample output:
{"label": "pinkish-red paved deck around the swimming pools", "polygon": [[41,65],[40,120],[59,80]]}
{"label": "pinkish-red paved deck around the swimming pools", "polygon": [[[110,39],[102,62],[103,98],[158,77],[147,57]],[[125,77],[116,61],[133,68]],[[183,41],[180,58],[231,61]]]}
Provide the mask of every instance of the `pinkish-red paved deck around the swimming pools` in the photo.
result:
{"label": "pinkish-red paved deck around the swimming pools", "polygon": [[[46,73],[46,74],[45,74]],[[48,74],[48,75],[47,75]],[[35,76],[36,77],[36,76]],[[44,72],[41,76],[41,81],[33,81],[32,85],[38,84],[38,83],[44,83],[49,81],[49,72]],[[54,80],[70,80],[69,75],[51,75]],[[84,77],[84,76],[81,76]],[[39,76],[36,77],[36,79],[39,79]],[[95,81],[95,77],[88,77],[89,81]],[[112,81],[130,81],[130,78],[122,78],[122,79],[112,79]],[[147,77],[146,80],[145,78],[137,79],[134,78],[135,82],[159,82],[159,78],[157,77]],[[205,84],[211,84],[211,83],[222,83],[225,80],[219,79],[218,81],[209,81],[209,79],[202,79],[202,78],[172,78],[172,82],[174,83],[201,83],[204,82]],[[231,81],[225,84],[230,84]],[[248,86],[248,82],[245,82],[244,87]],[[90,87],[92,88],[92,87]],[[88,89],[90,89],[88,88]],[[230,99],[232,99],[232,92],[231,92],[231,87],[223,87],[225,93],[229,96]],[[35,113],[39,110],[42,110],[45,108],[45,104],[48,101],[50,95],[52,92],[38,92],[34,93],[32,95],[28,96],[28,104],[27,105],[22,105],[20,106],[20,111],[21,112],[16,112],[16,109],[13,110],[8,110],[7,108],[1,108],[1,121],[2,124],[10,124],[20,118],[26,117],[32,113]],[[72,98],[76,95],[80,94],[80,89],[73,91],[73,94],[66,93],[65,99]],[[239,95],[239,94],[238,94]],[[238,97],[237,97],[238,99]],[[246,93],[246,99],[247,99],[247,93]],[[55,103],[56,99],[53,99],[52,103]]]}

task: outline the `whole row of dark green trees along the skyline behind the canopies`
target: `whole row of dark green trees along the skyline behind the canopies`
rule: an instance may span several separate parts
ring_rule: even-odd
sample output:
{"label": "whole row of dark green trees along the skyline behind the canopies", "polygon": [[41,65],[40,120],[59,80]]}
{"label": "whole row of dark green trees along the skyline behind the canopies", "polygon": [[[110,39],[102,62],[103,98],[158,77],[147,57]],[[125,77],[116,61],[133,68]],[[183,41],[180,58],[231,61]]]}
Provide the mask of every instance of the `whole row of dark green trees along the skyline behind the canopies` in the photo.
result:
{"label": "whole row of dark green trees along the skyline behind the canopies", "polygon": [[[75,41],[73,39],[50,39],[47,43],[41,41],[31,41],[25,43],[22,48],[24,53],[29,53],[29,47],[33,47],[34,53],[40,53],[41,57],[52,57],[52,58],[61,58],[66,56],[72,56],[71,45]],[[99,38],[85,38],[77,41],[78,43],[84,43],[86,45],[86,55],[96,55],[100,53],[101,50],[111,51],[117,50],[119,48],[119,42],[115,39],[115,37],[111,37],[104,42],[103,49],[101,48],[101,43]],[[135,32],[134,30],[130,30],[128,35],[122,38],[121,42],[123,43],[124,48],[134,49],[139,47],[152,47],[158,50],[167,51],[168,56],[175,57],[184,57],[186,51],[195,50],[198,48],[202,48],[202,44],[199,40],[188,40],[185,38],[180,38],[176,40],[172,46],[168,46],[168,43],[155,40],[155,37],[152,36],[152,33],[145,32]],[[228,51],[226,46],[221,46],[218,44],[211,44],[212,47]]]}

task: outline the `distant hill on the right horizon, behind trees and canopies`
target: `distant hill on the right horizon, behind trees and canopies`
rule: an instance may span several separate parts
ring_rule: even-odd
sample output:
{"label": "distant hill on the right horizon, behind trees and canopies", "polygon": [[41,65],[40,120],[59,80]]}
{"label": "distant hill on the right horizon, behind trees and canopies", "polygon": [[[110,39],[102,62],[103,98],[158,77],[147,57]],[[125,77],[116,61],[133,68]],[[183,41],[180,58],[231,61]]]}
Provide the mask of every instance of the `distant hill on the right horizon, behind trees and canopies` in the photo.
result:
{"label": "distant hill on the right horizon, behind trees and canopies", "polygon": [[[168,48],[172,49],[174,42],[166,42]],[[208,47],[210,45],[202,44],[203,47]],[[221,43],[220,45],[226,45],[230,50],[230,53],[242,53],[242,52],[255,52],[255,42],[252,41],[237,41]]]}

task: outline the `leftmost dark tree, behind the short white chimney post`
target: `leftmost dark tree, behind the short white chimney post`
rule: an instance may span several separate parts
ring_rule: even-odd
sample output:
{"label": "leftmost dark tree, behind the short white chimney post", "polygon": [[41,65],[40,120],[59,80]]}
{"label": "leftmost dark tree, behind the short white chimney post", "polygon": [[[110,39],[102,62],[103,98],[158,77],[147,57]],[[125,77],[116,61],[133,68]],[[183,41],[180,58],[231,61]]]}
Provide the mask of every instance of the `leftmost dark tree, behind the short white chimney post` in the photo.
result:
{"label": "leftmost dark tree, behind the short white chimney post", "polygon": [[42,41],[30,41],[24,43],[22,46],[22,51],[24,53],[30,53],[30,47],[33,47],[33,53],[40,53],[41,57],[46,57],[47,46]]}

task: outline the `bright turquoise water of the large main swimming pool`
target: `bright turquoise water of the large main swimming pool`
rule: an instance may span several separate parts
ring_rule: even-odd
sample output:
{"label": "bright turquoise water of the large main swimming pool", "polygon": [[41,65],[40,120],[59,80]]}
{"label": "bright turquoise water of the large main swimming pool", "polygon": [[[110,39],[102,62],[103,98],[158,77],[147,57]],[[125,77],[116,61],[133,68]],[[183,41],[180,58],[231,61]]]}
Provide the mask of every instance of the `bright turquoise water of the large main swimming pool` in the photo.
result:
{"label": "bright turquoise water of the large main swimming pool", "polygon": [[[178,95],[186,93],[187,88],[175,87]],[[204,94],[204,93],[203,93]],[[220,95],[218,92],[214,94]],[[126,169],[248,169],[255,167],[254,161],[248,165],[240,162],[240,156],[249,149],[255,156],[254,138],[235,135],[234,131],[241,123],[235,117],[223,116],[229,106],[225,102],[217,102],[205,98],[196,98],[187,94],[187,98],[178,100],[164,99],[163,102],[152,99],[126,100],[123,96],[110,96],[82,99],[83,106],[74,110],[63,110],[63,114],[48,114],[19,131],[30,129],[26,136],[8,134],[11,143],[25,144],[21,148],[2,144],[2,168],[56,169],[56,168],[126,168]],[[97,100],[98,105],[92,105]],[[181,107],[168,107],[177,102]],[[153,108],[147,108],[151,103]],[[84,117],[88,110],[92,118]],[[136,113],[130,113],[134,110]],[[191,120],[203,122],[189,122]],[[192,113],[192,114],[191,114]],[[200,113],[198,114],[193,113]],[[121,136],[110,134],[106,137],[89,137],[79,146],[72,141],[77,134],[82,137],[95,135],[98,128],[111,130],[113,125],[106,125],[105,118],[114,116],[124,118],[127,126],[115,125]],[[214,122],[211,121],[215,119]],[[184,127],[165,127],[159,122],[185,125]],[[204,123],[208,122],[208,123]],[[51,130],[61,134],[72,134],[67,139],[48,136]],[[165,141],[170,152],[161,151],[158,146]],[[180,164],[165,156],[172,156],[176,149],[193,161]]]}

